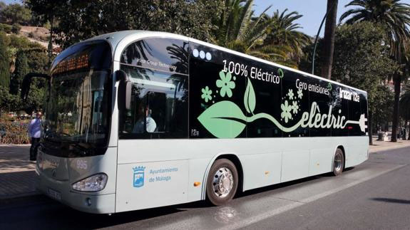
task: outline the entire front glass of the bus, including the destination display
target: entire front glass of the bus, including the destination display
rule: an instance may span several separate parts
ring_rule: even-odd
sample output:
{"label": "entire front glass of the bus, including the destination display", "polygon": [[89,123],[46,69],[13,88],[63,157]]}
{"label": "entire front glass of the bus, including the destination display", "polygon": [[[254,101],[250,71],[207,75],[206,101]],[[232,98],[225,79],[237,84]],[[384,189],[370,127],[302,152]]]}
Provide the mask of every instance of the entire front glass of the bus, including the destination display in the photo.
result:
{"label": "entire front glass of the bus, including the destination display", "polygon": [[78,43],[56,57],[43,121],[51,155],[104,154],[111,124],[111,73],[106,41]]}

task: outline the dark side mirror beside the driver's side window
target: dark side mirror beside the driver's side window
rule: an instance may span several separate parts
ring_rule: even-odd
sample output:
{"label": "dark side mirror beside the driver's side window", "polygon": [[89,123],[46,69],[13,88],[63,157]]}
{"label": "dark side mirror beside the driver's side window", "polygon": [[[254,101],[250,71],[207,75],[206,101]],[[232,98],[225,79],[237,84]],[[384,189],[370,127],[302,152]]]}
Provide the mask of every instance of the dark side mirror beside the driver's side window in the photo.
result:
{"label": "dark side mirror beside the driver's side window", "polygon": [[116,71],[116,79],[120,82],[118,85],[118,109],[130,110],[133,83],[123,70]]}

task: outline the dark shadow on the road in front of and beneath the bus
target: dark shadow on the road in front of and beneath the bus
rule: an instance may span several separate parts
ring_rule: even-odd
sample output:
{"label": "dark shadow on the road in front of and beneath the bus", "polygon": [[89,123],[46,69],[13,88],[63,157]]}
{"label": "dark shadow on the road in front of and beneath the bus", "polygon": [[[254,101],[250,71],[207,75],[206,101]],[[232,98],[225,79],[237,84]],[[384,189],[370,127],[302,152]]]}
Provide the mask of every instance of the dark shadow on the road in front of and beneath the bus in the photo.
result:
{"label": "dark shadow on the road in front of and beneath the bus", "polygon": [[[347,171],[352,168],[347,169]],[[247,197],[252,194],[258,196],[269,196],[270,191],[284,187],[291,187],[304,182],[311,182],[316,179],[331,177],[331,174],[321,174],[314,177],[298,179],[292,182],[285,182],[260,189],[252,189],[240,193],[237,197]],[[267,192],[264,194],[264,192]],[[155,226],[166,224],[166,219],[175,218],[174,221],[185,222],[188,219],[200,218],[209,221],[213,219],[217,222],[229,223],[230,219],[235,218],[235,208],[228,206],[211,207],[207,202],[193,202],[188,204],[178,204],[170,207],[160,207],[154,209],[144,209],[138,211],[127,211],[111,216],[104,214],[87,214],[76,211],[66,205],[55,202],[48,197],[39,196],[40,198],[29,201],[21,200],[14,204],[7,204],[3,209],[0,208],[0,229],[99,229],[99,228],[135,228],[135,221],[139,221],[139,226],[150,226],[150,221],[156,217],[162,217],[155,220]],[[239,199],[238,199],[239,200]],[[237,201],[232,201],[235,204]],[[240,201],[246,202],[246,201]],[[189,211],[191,209],[191,211]],[[192,210],[194,209],[194,211]],[[205,214],[203,209],[205,209]],[[187,214],[175,216],[173,214]],[[204,216],[205,215],[205,216]],[[199,217],[198,217],[199,216]],[[233,217],[232,217],[233,216]],[[24,218],[24,221],[21,219]],[[3,226],[3,227],[2,227]]]}

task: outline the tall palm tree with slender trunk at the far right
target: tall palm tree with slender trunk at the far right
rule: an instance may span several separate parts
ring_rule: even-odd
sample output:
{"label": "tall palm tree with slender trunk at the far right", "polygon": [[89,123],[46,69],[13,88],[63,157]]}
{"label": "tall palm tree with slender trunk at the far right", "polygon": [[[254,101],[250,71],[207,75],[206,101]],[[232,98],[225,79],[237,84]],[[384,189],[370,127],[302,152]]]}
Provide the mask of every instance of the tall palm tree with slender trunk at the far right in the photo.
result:
{"label": "tall palm tree with slender trunk at the far right", "polygon": [[340,21],[347,19],[346,23],[371,21],[379,23],[386,30],[388,43],[391,47],[391,57],[399,63],[400,69],[392,74],[394,80],[394,112],[391,141],[397,141],[397,127],[399,125],[399,98],[401,80],[404,78],[409,47],[410,5],[402,4],[400,0],[354,0],[346,6],[357,6],[342,14]]}

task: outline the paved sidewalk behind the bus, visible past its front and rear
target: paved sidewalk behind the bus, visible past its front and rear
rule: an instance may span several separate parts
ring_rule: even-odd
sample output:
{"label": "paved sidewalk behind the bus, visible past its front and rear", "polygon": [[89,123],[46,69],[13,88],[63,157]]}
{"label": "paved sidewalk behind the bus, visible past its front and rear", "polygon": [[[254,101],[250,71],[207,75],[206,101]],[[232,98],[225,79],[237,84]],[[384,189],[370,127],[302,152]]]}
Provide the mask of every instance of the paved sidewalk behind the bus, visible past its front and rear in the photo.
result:
{"label": "paved sidewalk behind the bus, visible past its front and rear", "polygon": [[[410,147],[410,140],[396,143],[374,139],[369,152]],[[29,161],[30,145],[0,145],[0,202],[39,194],[35,189],[36,164]]]}

